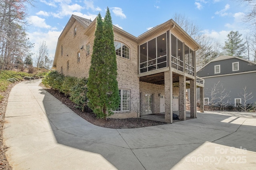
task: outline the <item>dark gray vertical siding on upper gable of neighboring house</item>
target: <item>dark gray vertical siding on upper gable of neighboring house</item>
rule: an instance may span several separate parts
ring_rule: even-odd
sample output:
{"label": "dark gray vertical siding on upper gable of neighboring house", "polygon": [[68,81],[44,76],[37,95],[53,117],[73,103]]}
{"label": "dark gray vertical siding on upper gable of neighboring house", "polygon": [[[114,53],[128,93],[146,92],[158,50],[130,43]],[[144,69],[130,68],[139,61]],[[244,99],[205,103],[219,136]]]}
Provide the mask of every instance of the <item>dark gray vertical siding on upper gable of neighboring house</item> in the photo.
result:
{"label": "dark gray vertical siding on upper gable of neighboring house", "polygon": [[[232,70],[232,63],[239,62],[239,70],[233,71]],[[214,66],[220,65],[220,73],[214,74]],[[256,70],[256,65],[240,60],[237,58],[220,60],[220,61],[213,61],[207,64],[204,68],[197,72],[197,76],[199,77],[207,77],[207,76],[217,76],[217,75],[224,75],[224,74],[234,74],[240,72],[248,72]]]}

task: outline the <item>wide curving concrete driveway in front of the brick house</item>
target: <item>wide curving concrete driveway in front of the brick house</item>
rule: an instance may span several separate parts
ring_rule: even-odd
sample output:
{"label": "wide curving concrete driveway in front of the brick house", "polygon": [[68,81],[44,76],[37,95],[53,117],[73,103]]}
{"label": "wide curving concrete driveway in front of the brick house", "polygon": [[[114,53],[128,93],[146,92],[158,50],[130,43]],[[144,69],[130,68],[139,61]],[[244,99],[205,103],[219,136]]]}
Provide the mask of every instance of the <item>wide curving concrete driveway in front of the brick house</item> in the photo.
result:
{"label": "wide curving concrete driveway in front of the brick house", "polygon": [[251,113],[198,113],[168,125],[107,129],[76,115],[39,83],[17,84],[8,99],[3,136],[14,170],[255,170]]}

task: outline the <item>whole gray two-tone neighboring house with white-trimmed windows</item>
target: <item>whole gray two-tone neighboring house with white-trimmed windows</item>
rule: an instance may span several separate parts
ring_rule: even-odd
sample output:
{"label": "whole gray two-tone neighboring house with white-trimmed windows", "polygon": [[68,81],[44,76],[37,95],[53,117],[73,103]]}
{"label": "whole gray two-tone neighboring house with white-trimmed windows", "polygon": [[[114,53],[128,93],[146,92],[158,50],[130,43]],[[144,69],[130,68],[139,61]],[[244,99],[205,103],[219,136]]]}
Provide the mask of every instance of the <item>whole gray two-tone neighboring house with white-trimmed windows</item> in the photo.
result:
{"label": "whole gray two-tone neighboring house with white-trimmed windows", "polygon": [[[200,68],[196,75],[204,79],[204,105],[217,105],[221,99],[224,104],[233,106],[243,105],[245,100],[246,105],[256,102],[256,63],[252,61],[220,56]],[[247,95],[244,95],[244,87]],[[224,98],[225,94],[228,97]]]}

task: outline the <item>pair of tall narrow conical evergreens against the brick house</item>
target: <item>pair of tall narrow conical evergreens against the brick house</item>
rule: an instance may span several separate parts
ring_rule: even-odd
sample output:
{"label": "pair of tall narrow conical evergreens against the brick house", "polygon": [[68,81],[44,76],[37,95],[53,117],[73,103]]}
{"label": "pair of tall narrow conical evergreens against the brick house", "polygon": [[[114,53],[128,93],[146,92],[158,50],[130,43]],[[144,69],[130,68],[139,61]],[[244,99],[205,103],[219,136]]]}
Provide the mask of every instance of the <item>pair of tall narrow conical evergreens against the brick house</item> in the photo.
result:
{"label": "pair of tall narrow conical evergreens against the brick house", "polygon": [[114,32],[107,8],[104,22],[98,14],[92,60],[88,78],[89,107],[99,118],[106,119],[120,102],[117,78]]}

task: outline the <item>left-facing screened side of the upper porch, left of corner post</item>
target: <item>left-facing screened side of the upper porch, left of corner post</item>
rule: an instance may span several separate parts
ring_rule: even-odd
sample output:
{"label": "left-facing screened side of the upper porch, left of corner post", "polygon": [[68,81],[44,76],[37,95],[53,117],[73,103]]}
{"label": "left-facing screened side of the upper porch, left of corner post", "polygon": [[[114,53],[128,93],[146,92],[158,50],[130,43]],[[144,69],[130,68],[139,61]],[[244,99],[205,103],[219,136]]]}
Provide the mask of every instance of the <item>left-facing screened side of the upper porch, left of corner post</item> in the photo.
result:
{"label": "left-facing screened side of the upper porch, left of corner post", "polygon": [[167,67],[166,33],[139,46],[140,73]]}

